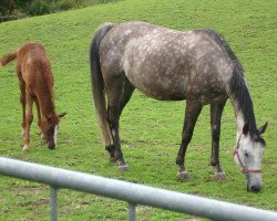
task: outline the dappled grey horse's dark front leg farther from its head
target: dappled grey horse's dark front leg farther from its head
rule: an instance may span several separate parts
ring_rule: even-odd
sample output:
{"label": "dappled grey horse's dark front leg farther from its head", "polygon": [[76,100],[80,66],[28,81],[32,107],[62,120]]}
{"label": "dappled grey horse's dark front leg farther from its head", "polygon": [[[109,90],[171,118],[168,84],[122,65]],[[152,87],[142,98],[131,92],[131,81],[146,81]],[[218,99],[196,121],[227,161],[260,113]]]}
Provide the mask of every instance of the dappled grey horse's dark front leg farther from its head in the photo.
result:
{"label": "dappled grey horse's dark front leg farther from its head", "polygon": [[178,150],[176,164],[178,166],[178,179],[181,181],[187,179],[187,171],[185,170],[185,154],[187,145],[189,144],[193,137],[193,130],[195,123],[201,114],[203,105],[197,101],[186,101],[186,112],[185,112],[185,122],[182,134],[182,144]]}

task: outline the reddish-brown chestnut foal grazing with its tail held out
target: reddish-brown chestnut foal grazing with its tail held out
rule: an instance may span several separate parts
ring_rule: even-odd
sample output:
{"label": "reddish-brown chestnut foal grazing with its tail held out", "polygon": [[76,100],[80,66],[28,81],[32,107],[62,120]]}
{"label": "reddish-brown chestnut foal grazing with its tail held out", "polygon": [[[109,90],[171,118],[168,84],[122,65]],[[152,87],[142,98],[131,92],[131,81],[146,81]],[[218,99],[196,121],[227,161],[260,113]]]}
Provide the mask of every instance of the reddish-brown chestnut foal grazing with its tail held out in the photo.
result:
{"label": "reddish-brown chestnut foal grazing with its tail held out", "polygon": [[8,53],[1,59],[2,66],[17,59],[17,73],[21,91],[22,128],[24,146],[30,149],[30,127],[33,120],[32,104],[37,105],[38,125],[41,136],[47,140],[48,147],[57,146],[58,125],[65,115],[55,113],[53,101],[53,75],[50,61],[44,46],[40,43],[27,43],[16,52]]}

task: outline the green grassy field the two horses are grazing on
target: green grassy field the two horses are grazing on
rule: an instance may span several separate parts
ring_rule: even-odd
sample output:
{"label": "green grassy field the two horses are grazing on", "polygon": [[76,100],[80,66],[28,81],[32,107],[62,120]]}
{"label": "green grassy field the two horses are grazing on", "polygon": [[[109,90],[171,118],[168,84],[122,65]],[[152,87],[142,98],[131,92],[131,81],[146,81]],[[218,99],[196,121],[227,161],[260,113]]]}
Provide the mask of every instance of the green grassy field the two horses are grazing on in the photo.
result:
{"label": "green grassy field the two horses are grazing on", "polygon": [[[129,0],[0,24],[0,56],[24,42],[40,41],[51,59],[60,124],[59,147],[50,151],[38,135],[22,152],[21,106],[14,63],[0,67],[0,155],[91,172],[153,187],[229,202],[277,210],[277,1]],[[197,122],[188,147],[189,180],[176,180],[175,158],[181,141],[184,102],[157,102],[135,92],[121,118],[122,148],[130,171],[109,164],[92,106],[89,44],[105,21],[143,20],[177,30],[209,28],[220,32],[240,60],[253,95],[257,124],[268,122],[263,162],[264,188],[246,192],[245,178],[233,161],[235,119],[230,103],[222,125],[220,161],[226,181],[215,181],[208,166],[208,106]],[[0,220],[49,220],[49,187],[0,176]],[[60,220],[126,220],[125,202],[60,190]],[[186,220],[192,217],[148,207],[137,208],[137,220]]]}

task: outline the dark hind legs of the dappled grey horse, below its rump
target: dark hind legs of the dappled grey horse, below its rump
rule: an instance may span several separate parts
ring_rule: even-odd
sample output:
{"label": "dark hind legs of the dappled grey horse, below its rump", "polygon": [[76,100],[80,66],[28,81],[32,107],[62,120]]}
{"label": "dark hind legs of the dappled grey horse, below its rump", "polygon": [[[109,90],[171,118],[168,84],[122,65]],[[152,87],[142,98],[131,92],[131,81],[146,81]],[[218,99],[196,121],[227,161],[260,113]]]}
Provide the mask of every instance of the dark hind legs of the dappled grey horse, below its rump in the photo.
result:
{"label": "dark hind legs of the dappled grey horse, below its rump", "polygon": [[113,90],[110,88],[106,92],[109,99],[107,118],[114,140],[114,145],[106,147],[106,150],[110,152],[111,161],[117,161],[121,170],[126,170],[127,165],[121,150],[119,122],[121,113],[130,101],[133,91],[133,85],[127,80],[124,80],[123,82],[113,83]]}

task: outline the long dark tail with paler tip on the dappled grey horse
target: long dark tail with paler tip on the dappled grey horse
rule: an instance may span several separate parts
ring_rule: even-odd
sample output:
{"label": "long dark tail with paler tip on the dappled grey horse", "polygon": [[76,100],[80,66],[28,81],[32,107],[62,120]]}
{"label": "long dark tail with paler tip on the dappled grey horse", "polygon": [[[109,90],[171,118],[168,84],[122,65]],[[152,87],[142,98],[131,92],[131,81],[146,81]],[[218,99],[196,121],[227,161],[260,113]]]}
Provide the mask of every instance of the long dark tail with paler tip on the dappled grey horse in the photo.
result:
{"label": "long dark tail with paler tip on the dappled grey horse", "polygon": [[99,46],[101,40],[112,27],[113,24],[105,24],[101,27],[94,34],[90,45],[92,95],[99,119],[99,126],[101,129],[102,141],[105,146],[113,145],[113,137],[107,122],[104,81],[100,66]]}

